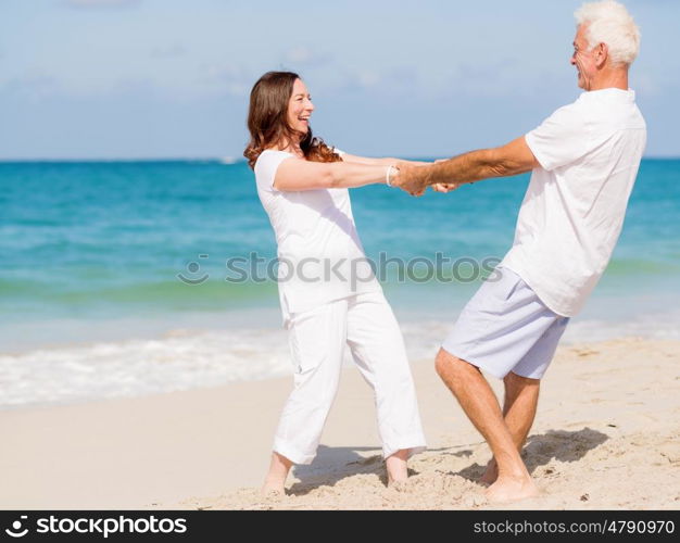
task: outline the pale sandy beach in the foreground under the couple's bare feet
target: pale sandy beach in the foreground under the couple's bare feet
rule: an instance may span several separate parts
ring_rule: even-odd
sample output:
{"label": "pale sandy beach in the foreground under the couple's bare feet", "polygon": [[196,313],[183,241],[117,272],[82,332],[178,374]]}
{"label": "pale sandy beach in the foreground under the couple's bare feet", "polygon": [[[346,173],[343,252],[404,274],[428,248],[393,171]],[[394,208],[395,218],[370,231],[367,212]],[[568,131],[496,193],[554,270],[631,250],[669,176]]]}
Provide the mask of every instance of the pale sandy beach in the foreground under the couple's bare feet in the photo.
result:
{"label": "pale sandy beach in the foreground under the couple's bare feet", "polygon": [[429,450],[400,491],[385,484],[370,391],[348,368],[317,458],[281,500],[256,489],[290,378],[0,412],[0,507],[680,508],[680,342],[562,346],[524,452],[542,495],[503,506],[475,482],[487,445],[430,361],[412,367]]}

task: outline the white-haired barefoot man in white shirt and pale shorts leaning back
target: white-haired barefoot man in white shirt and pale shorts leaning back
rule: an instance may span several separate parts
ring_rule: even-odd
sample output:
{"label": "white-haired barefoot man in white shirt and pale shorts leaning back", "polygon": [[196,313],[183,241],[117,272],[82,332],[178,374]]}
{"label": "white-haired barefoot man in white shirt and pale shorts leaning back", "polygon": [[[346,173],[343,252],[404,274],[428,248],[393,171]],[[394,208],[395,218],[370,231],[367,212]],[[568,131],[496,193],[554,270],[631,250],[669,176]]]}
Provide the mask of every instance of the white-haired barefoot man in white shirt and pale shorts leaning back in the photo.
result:
{"label": "white-haired barefoot man in white shirt and pale shorts leaning back", "polygon": [[[569,317],[604,272],[618,239],[646,141],[628,88],[640,33],[613,0],[575,14],[571,64],[584,90],[508,144],[431,166],[402,167],[394,185],[420,195],[532,171],[513,248],[466,305],[437,355],[437,371],[493,453],[482,482],[490,501],[537,495],[521,450],[540,379]],[[503,378],[503,411],[480,369]]]}

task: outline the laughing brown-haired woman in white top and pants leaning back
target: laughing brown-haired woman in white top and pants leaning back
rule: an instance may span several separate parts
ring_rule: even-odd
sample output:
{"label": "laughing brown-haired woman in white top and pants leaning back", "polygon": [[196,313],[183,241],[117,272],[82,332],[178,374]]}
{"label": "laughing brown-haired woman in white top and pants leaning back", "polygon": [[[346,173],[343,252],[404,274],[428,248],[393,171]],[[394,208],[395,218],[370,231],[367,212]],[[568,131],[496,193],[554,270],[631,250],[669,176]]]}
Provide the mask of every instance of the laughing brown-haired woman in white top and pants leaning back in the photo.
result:
{"label": "laughing brown-haired woman in white top and pants leaning back", "polygon": [[250,94],[243,155],[278,243],[279,298],[294,389],[274,441],[264,493],[284,494],[293,464],[310,464],[338,389],[348,344],[376,395],[389,483],[425,438],[399,325],[364,255],[349,191],[390,184],[400,161],[335,151],[312,137],[314,111],[297,74],[269,72]]}

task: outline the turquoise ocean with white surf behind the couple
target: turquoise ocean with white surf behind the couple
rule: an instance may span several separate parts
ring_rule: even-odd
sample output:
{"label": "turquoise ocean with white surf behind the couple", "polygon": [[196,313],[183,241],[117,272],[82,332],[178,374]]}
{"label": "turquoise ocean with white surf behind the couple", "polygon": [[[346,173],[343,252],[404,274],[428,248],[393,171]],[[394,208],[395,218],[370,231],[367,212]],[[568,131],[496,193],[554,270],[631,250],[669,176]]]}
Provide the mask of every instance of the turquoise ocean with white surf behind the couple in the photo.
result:
{"label": "turquoise ocean with white surf behind the couple", "polygon": [[[413,359],[433,356],[509,249],[528,180],[352,191],[366,254],[391,262],[379,275]],[[0,407],[290,374],[274,233],[243,162],[0,163]],[[564,341],[678,338],[679,302],[680,160],[644,160]]]}

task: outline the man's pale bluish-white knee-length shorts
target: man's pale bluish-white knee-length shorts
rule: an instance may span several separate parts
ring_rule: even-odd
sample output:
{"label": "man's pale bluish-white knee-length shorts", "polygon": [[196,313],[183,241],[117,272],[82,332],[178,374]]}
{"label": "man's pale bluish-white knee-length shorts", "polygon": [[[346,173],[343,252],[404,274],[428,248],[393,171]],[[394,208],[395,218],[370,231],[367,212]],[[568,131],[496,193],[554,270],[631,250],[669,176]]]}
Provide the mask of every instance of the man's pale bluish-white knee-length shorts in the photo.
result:
{"label": "man's pale bluish-white knee-length shorts", "polygon": [[467,303],[442,349],[500,379],[513,371],[540,379],[569,317],[545,306],[521,277],[498,267]]}

